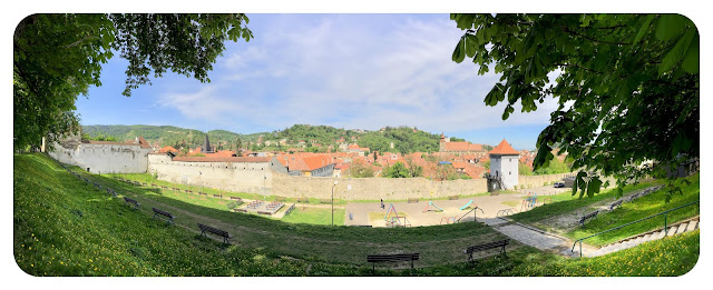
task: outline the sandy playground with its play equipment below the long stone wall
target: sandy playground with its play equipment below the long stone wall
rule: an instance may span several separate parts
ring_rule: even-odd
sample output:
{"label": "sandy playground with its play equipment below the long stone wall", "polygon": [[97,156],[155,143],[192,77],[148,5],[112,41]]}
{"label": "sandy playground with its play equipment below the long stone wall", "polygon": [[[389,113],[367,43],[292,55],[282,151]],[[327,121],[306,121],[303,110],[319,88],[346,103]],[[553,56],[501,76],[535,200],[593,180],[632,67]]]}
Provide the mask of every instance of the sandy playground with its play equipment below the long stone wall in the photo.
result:
{"label": "sandy playground with its play equipment below the long stone wall", "polygon": [[[379,202],[350,202],[346,204],[344,224],[424,227],[472,221],[473,217],[481,219],[509,216],[540,206],[546,202],[548,196],[567,190],[570,189],[541,187],[520,190],[516,193],[462,197],[456,200],[421,199],[418,202],[384,202],[383,209]],[[473,210],[476,207],[478,209]]]}

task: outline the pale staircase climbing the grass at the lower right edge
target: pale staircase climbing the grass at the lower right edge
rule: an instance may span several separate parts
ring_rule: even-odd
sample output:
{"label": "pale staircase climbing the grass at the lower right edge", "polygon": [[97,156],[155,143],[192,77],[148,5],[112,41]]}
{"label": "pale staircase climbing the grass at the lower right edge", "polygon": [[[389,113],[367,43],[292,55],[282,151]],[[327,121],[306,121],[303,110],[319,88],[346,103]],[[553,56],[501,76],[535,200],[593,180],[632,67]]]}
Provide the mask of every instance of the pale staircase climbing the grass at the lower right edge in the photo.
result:
{"label": "pale staircase climbing the grass at the lower right edge", "polygon": [[604,246],[602,248],[599,248],[598,250],[595,251],[583,251],[585,257],[599,257],[599,256],[604,256],[607,253],[612,253],[612,252],[616,252],[616,251],[621,251],[621,250],[625,250],[628,248],[633,248],[636,247],[638,244],[642,244],[644,242],[648,242],[648,241],[655,241],[658,239],[662,239],[666,236],[674,236],[674,234],[680,234],[680,233],[684,233],[687,231],[693,231],[695,229],[699,228],[699,221],[700,221],[700,217],[695,217],[695,218],[691,218],[688,220],[685,221],[681,221],[678,223],[675,223],[671,227],[668,227],[668,233],[666,234],[666,231],[664,229],[658,229],[658,230],[654,230],[654,231],[648,231],[648,232],[644,232],[634,237],[629,237],[626,238],[624,240],[617,241],[617,242],[613,242],[609,243],[607,246]]}

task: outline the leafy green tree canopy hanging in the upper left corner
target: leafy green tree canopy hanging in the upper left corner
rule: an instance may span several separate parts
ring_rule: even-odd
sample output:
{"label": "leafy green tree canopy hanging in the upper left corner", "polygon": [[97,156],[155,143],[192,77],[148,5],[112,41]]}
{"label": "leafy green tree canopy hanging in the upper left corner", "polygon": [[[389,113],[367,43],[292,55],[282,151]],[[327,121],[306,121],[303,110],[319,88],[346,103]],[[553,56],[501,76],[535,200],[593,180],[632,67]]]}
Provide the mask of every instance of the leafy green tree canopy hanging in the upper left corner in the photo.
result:
{"label": "leafy green tree canopy hanging in the upper left corner", "polygon": [[101,86],[115,52],[129,61],[124,96],[170,70],[209,82],[226,40],[248,41],[244,14],[32,14],[13,34],[13,146],[76,132],[79,94]]}

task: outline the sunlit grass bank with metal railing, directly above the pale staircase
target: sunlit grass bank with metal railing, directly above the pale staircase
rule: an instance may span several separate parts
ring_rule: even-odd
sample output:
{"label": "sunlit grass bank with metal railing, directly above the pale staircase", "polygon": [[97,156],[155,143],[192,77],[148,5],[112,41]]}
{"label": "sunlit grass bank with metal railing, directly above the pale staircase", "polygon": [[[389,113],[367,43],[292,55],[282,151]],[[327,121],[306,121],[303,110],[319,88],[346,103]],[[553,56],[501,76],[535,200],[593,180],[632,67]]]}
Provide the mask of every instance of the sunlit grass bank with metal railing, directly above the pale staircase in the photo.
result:
{"label": "sunlit grass bank with metal railing, directly above the pale staircase", "polygon": [[[602,232],[632,221],[654,216],[662,211],[677,208],[690,202],[699,201],[701,191],[699,174],[686,178],[686,180],[691,181],[691,184],[682,186],[681,189],[683,191],[683,194],[673,196],[671,202],[668,203],[665,203],[664,200],[664,188],[645,197],[635,199],[632,202],[626,202],[625,200],[625,202],[623,202],[622,206],[614,211],[607,212],[606,214],[599,214],[596,219],[587,222],[585,227],[575,228],[574,230],[565,232],[564,236],[572,239],[585,238],[597,232]],[[667,222],[668,224],[671,224],[673,222],[697,216],[700,214],[700,203],[677,209],[667,213]],[[624,227],[619,230],[593,237],[590,239],[587,239],[585,243],[602,246],[663,227],[664,216],[660,216]]]}

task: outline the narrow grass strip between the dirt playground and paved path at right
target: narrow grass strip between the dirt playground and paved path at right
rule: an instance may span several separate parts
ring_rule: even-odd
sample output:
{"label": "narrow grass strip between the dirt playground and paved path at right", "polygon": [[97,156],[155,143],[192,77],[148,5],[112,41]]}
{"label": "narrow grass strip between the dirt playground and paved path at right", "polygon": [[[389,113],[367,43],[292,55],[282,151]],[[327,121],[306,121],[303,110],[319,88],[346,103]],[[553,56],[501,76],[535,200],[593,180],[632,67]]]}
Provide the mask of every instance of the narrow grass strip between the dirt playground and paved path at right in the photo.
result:
{"label": "narrow grass strip between the dirt playground and paved path at right", "polygon": [[[632,192],[632,191],[636,191],[636,190],[641,190],[644,188],[648,188],[648,187],[653,187],[653,186],[657,186],[663,183],[663,181],[647,181],[647,182],[641,182],[636,186],[627,186],[624,188],[624,194]],[[583,198],[578,198],[578,193],[576,197],[572,197],[572,192],[567,191],[567,192],[563,192],[559,194],[553,194],[553,196],[545,196],[545,197],[538,197],[538,199],[540,198],[551,198],[553,203],[547,203],[544,204],[541,207],[537,207],[534,208],[531,210],[525,211],[525,212],[520,212],[520,213],[516,213],[510,216],[509,218],[518,221],[518,222],[522,222],[522,223],[534,223],[540,220],[545,220],[551,217],[557,217],[564,213],[568,213],[572,211],[575,211],[579,208],[584,208],[584,207],[588,207],[593,203],[599,202],[602,200],[605,199],[613,199],[615,197],[615,188],[612,188],[609,190],[605,190],[598,194],[595,194],[594,197],[589,198],[589,197],[583,197]]]}

